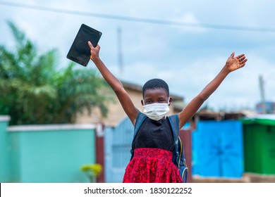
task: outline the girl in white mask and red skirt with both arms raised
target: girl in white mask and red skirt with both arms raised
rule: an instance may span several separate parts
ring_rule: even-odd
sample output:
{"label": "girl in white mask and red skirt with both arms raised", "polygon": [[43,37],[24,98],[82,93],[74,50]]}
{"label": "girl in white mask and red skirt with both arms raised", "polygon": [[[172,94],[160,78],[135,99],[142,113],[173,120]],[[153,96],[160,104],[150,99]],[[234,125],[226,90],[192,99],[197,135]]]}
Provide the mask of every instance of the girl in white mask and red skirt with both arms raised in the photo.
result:
{"label": "girl in white mask and red skirt with both arms raised", "polygon": [[[100,46],[94,47],[91,42],[88,44],[91,60],[114,90],[123,110],[135,126],[140,110],[135,108],[121,82],[99,58]],[[181,113],[178,113],[179,128],[193,117],[226,76],[234,70],[243,68],[246,61],[244,54],[234,57],[233,52],[214,80],[207,84]],[[145,108],[143,113],[147,118],[133,141],[134,156],[126,167],[123,182],[183,182],[178,168],[172,162],[173,136],[169,121],[165,117],[169,113],[169,105],[172,102],[172,98],[169,97],[169,87],[163,80],[149,80],[143,86],[142,97],[141,104]]]}

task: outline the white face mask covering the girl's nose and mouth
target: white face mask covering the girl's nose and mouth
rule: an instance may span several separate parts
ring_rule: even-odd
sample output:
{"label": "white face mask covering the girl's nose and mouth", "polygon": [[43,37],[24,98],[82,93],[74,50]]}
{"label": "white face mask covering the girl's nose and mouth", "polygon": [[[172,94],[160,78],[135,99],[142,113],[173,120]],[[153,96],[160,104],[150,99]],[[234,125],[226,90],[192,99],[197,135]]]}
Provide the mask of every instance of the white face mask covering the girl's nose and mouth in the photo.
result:
{"label": "white face mask covering the girl's nose and mouth", "polygon": [[152,120],[160,120],[169,113],[169,103],[152,103],[143,107],[143,113]]}

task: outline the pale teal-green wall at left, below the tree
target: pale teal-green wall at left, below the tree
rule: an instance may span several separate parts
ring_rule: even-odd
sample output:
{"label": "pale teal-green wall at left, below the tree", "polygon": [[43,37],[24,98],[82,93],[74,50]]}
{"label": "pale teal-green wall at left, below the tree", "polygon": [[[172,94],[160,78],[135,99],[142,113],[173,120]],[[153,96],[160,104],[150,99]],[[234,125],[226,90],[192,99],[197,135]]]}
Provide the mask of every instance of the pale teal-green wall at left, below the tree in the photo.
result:
{"label": "pale teal-green wall at left, below the tree", "polygon": [[0,119],[0,182],[88,182],[95,163],[95,125],[7,127]]}

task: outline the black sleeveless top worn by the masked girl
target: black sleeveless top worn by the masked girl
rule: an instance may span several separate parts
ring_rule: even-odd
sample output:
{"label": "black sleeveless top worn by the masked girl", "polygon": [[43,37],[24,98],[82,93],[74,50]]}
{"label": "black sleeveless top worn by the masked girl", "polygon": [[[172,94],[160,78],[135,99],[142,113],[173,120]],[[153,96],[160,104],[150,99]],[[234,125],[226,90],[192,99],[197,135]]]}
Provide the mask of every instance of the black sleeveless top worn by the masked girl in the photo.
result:
{"label": "black sleeveless top worn by the masked girl", "polygon": [[168,118],[152,120],[146,117],[133,141],[135,148],[161,148],[173,151],[173,131]]}

